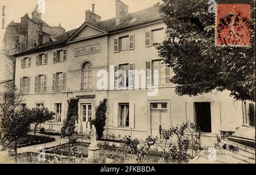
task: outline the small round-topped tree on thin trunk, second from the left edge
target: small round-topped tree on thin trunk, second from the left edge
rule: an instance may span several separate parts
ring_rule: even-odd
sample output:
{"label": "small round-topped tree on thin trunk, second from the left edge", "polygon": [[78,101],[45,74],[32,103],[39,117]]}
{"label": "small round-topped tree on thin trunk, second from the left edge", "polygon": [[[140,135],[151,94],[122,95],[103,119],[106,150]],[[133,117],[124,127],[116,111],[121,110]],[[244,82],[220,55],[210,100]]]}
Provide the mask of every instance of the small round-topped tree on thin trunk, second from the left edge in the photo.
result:
{"label": "small round-topped tree on thin trunk, second from the left edge", "polygon": [[32,110],[28,110],[31,114],[30,120],[31,123],[35,125],[34,128],[34,140],[36,139],[36,127],[38,127],[39,124],[45,123],[49,120],[54,119],[55,113],[52,111],[49,111],[47,108],[33,108]]}

